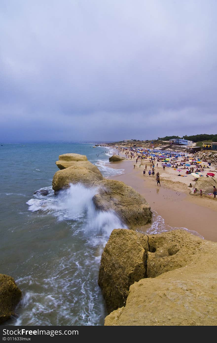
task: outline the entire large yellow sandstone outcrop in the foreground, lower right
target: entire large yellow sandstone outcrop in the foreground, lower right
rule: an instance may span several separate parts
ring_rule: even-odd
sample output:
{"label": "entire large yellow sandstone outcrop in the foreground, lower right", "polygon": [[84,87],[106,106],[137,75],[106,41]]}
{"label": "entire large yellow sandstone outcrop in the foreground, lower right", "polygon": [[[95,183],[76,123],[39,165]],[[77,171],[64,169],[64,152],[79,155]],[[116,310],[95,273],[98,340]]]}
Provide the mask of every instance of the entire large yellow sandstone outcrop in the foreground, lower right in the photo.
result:
{"label": "entire large yellow sandstone outcrop in the foreground, lower right", "polygon": [[[217,243],[185,230],[144,235],[142,240],[141,236],[132,230],[113,230],[104,249],[98,282],[108,309],[119,306],[106,317],[105,325],[216,325]],[[128,288],[130,270],[135,281],[143,272],[145,277]]]}

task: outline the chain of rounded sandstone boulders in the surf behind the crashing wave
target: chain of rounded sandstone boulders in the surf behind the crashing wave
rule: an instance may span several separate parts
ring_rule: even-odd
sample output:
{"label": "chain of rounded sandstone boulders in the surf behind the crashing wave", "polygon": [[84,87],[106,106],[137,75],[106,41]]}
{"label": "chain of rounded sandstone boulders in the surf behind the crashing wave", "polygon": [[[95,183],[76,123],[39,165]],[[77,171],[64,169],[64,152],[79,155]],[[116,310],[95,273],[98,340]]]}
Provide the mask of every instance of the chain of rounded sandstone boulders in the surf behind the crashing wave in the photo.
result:
{"label": "chain of rounded sandstone boulders in the surf behind the crashing wave", "polygon": [[86,156],[60,155],[56,164],[61,170],[53,176],[52,187],[55,192],[78,182],[87,187],[95,186],[98,192],[93,201],[97,209],[115,211],[131,229],[151,221],[152,212],[146,200],[123,182],[103,178],[99,169],[87,161]]}

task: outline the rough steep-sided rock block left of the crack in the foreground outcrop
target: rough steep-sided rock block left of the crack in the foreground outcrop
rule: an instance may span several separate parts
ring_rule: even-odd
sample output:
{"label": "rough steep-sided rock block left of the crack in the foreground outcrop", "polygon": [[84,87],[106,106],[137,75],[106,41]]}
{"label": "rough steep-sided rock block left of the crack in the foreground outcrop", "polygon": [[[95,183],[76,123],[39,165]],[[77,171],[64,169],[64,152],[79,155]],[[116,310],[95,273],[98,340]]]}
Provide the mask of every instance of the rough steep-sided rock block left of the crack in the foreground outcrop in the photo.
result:
{"label": "rough steep-sided rock block left of the crack in the foreground outcrop", "polygon": [[147,236],[126,229],[112,231],[101,257],[98,280],[108,312],[124,306],[130,285],[145,277],[147,251]]}

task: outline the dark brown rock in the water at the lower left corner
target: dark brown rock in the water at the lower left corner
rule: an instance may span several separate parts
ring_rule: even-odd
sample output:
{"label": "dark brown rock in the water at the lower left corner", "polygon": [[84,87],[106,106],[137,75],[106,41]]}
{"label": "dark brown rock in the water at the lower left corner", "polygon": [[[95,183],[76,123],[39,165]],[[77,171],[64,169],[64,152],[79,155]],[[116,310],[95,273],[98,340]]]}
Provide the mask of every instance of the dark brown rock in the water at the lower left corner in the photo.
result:
{"label": "dark brown rock in the water at the lower left corner", "polygon": [[14,315],[14,308],[19,303],[21,295],[14,279],[0,274],[0,323]]}

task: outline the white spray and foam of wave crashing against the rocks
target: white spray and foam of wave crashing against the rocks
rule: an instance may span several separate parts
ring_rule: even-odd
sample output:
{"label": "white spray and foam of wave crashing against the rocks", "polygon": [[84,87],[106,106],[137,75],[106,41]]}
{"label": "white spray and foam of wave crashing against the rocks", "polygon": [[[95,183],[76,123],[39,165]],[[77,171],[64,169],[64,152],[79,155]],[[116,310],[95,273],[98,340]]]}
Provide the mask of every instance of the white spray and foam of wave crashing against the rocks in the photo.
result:
{"label": "white spray and foam of wave crashing against the rocks", "polygon": [[114,211],[96,210],[93,197],[97,192],[97,187],[87,188],[82,184],[71,184],[68,189],[59,192],[58,196],[54,196],[53,192],[46,197],[35,194],[35,198],[27,201],[28,210],[52,213],[59,221],[82,221],[85,231],[105,234],[108,237],[114,228],[126,226]]}

